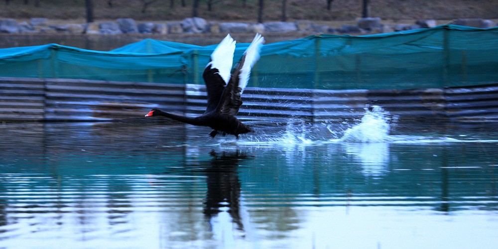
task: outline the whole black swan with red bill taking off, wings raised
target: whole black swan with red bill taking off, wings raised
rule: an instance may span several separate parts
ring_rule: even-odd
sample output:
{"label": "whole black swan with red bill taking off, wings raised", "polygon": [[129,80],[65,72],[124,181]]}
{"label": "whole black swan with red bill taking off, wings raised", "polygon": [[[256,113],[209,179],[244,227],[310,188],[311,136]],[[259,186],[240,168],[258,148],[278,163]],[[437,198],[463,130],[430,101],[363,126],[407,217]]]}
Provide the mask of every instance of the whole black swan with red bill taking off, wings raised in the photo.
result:
{"label": "whole black swan with red bill taking off, wings raised", "polygon": [[259,59],[259,49],[263,43],[264,38],[256,33],[241,60],[230,73],[234,61],[235,40],[228,34],[220,42],[202,74],[208,93],[208,106],[203,115],[189,118],[152,109],[145,117],[163,116],[187,124],[209,126],[213,128],[209,133],[211,137],[221,132],[223,135],[232,134],[239,138],[239,134],[252,131],[235,116],[239,113],[242,92],[249,82],[252,66]]}

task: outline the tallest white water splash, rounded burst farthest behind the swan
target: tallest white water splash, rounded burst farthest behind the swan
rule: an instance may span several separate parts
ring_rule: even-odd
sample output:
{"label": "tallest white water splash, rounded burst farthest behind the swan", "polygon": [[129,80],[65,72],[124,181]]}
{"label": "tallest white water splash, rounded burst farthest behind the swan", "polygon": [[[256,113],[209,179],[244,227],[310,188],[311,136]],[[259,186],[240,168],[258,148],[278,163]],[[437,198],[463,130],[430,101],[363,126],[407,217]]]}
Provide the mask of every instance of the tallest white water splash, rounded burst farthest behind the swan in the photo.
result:
{"label": "tallest white water splash, rounded burst farthest behind the swan", "polygon": [[346,129],[339,140],[362,143],[390,141],[392,138],[389,136],[389,130],[392,121],[389,112],[382,107],[367,107],[360,123]]}

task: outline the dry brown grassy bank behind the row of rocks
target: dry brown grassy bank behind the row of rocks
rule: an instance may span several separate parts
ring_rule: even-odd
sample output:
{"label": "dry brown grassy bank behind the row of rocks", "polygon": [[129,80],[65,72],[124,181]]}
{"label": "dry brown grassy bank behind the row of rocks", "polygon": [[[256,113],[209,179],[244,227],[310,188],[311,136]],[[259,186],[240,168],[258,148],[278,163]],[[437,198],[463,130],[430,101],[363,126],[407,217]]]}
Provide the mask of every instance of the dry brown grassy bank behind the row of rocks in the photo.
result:
{"label": "dry brown grassy bank behind the row of rocks", "polygon": [[[150,0],[148,0],[150,1]],[[255,21],[257,0],[202,0],[199,17],[208,20]],[[84,19],[84,0],[40,0],[38,7],[34,0],[24,4],[23,0],[0,1],[0,18],[28,19],[47,17],[53,19]],[[96,20],[131,17],[136,20],[181,20],[191,16],[192,0],[156,0],[142,12],[142,0],[94,0]],[[264,21],[281,19],[280,0],[265,0]],[[348,21],[361,16],[362,0],[333,0],[327,10],[326,0],[287,0],[288,20],[309,19],[315,21]],[[498,18],[497,0],[371,0],[371,16],[388,20],[455,18]]]}

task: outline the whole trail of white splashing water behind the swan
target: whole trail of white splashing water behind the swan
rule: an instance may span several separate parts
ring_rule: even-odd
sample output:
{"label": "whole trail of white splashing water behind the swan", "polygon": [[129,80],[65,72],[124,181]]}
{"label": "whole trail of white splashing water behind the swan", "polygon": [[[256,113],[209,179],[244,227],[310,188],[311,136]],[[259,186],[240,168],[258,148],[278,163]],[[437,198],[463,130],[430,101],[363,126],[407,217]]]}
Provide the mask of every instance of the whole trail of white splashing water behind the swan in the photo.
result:
{"label": "whole trail of white splashing water behind the swan", "polygon": [[[292,119],[279,120],[271,125],[256,124],[257,132],[241,135],[241,139],[233,136],[223,137],[219,141],[223,146],[282,146],[284,149],[304,148],[330,143],[440,143],[440,142],[496,142],[497,140],[457,139],[430,135],[390,134],[397,124],[397,117],[380,106],[370,106],[364,109],[364,115],[355,124],[343,122],[325,122],[313,124],[309,120]],[[415,124],[416,125],[416,124]],[[413,128],[418,129],[416,126]],[[325,129],[325,130],[324,130]],[[328,130],[328,132],[326,131]],[[412,129],[406,131],[412,132]],[[459,136],[459,138],[462,137]],[[467,135],[465,135],[467,137]],[[368,146],[364,146],[368,147]],[[371,146],[372,147],[372,146]],[[369,150],[380,149],[373,146]],[[370,153],[370,152],[369,152]],[[355,153],[357,154],[357,153]]]}

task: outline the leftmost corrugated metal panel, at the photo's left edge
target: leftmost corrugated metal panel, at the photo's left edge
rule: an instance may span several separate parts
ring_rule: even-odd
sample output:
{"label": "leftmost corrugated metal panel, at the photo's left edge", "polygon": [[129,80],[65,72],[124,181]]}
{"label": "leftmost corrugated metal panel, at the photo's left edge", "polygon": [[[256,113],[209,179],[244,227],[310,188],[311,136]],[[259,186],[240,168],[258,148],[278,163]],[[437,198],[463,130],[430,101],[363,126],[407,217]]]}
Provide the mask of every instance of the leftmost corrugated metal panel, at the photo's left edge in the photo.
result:
{"label": "leftmost corrugated metal panel, at the photo's left edge", "polygon": [[45,112],[44,81],[4,78],[0,80],[0,121],[39,121]]}

